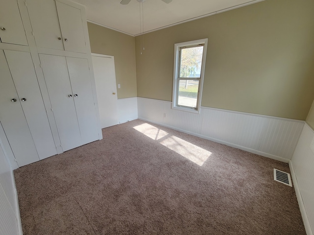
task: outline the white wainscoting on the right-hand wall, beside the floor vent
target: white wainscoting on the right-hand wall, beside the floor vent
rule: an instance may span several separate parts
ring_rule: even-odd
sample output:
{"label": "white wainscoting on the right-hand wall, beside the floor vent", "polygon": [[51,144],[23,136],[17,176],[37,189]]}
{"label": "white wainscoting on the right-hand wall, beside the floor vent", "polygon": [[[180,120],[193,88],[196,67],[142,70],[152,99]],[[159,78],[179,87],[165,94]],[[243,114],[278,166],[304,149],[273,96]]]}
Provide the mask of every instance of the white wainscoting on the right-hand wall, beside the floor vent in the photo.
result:
{"label": "white wainscoting on the right-hand wall, beside the floor vent", "polygon": [[[290,164],[307,235],[314,231],[314,130],[306,123]],[[292,174],[292,177],[293,177]]]}

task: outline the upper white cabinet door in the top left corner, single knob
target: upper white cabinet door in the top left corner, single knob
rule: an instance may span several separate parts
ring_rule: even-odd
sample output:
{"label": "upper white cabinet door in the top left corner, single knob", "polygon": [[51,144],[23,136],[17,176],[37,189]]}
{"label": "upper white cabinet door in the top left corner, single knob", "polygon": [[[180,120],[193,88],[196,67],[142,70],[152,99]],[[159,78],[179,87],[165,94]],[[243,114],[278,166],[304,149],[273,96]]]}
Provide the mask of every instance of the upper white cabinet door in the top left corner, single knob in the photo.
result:
{"label": "upper white cabinet door in the top left corner, single knob", "polygon": [[1,42],[27,46],[17,0],[0,0],[0,6]]}

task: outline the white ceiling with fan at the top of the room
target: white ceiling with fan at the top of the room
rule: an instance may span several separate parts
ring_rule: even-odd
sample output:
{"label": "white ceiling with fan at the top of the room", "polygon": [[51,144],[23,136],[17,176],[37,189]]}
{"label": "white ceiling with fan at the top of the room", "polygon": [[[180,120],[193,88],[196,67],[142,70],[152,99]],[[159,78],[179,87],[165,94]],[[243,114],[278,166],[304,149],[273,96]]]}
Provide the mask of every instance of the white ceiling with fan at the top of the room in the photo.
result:
{"label": "white ceiling with fan at the top of the room", "polygon": [[[131,0],[74,0],[86,7],[87,21],[136,36],[140,31],[140,3]],[[262,0],[144,0],[144,32],[183,23]]]}

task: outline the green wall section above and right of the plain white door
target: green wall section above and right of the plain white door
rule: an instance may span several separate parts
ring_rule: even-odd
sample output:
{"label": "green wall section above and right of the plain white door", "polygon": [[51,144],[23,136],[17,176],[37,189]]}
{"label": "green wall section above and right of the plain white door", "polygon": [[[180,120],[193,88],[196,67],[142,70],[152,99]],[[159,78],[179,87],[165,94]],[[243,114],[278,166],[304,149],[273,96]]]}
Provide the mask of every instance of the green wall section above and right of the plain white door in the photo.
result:
{"label": "green wall section above and right of the plain white door", "polygon": [[135,38],[97,24],[87,23],[92,53],[114,56],[118,98],[137,96]]}

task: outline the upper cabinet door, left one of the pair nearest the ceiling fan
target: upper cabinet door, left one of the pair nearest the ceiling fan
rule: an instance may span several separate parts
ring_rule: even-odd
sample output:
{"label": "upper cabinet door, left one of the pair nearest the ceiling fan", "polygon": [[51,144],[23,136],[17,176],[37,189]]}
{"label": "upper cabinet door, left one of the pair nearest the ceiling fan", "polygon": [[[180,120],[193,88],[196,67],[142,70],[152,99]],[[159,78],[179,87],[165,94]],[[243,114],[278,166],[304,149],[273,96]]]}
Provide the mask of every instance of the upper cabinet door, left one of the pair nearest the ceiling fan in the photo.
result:
{"label": "upper cabinet door, left one of the pair nearest the ceiling fan", "polygon": [[55,1],[27,0],[27,10],[37,47],[63,50]]}

